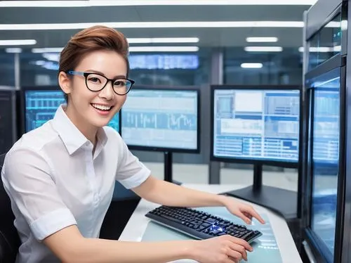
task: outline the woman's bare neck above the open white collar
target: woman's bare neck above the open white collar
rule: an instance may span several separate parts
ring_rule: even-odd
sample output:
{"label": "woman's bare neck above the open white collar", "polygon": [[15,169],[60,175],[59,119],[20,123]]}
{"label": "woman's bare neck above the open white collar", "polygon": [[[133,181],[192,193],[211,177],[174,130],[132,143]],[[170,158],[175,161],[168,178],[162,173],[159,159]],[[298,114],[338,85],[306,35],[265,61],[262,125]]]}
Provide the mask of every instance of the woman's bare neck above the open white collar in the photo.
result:
{"label": "woman's bare neck above the open white collar", "polygon": [[65,113],[67,117],[69,117],[69,120],[74,124],[74,126],[81,131],[81,133],[93,143],[94,148],[96,144],[96,136],[98,134],[98,128],[93,127],[92,125],[84,123],[83,117],[77,115],[77,111],[69,107],[67,105],[66,108],[63,108],[65,110]]}

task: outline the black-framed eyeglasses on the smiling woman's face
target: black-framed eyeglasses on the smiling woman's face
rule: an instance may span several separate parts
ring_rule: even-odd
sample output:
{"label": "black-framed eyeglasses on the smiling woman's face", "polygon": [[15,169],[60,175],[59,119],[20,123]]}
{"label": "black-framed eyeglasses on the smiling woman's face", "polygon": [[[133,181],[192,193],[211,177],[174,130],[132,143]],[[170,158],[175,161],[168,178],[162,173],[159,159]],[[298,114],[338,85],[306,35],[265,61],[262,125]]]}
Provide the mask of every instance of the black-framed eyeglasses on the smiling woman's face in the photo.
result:
{"label": "black-framed eyeglasses on the smiling woman's face", "polygon": [[81,75],[86,79],[86,87],[90,91],[101,91],[105,88],[108,82],[112,83],[114,93],[118,95],[126,95],[133,84],[135,83],[133,79],[127,79],[125,77],[118,77],[117,79],[108,79],[104,75],[95,72],[81,72],[81,71],[67,71],[70,75]]}

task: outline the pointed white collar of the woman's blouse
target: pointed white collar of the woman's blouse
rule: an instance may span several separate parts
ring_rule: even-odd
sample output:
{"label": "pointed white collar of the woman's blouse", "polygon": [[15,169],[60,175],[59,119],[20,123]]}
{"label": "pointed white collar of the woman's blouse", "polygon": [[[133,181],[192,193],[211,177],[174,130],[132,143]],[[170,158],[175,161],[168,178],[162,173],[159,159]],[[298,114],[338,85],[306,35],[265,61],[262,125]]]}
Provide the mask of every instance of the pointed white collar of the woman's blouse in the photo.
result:
{"label": "pointed white collar of the woman's blouse", "polygon": [[[65,110],[62,108],[64,106],[66,105],[62,104],[58,107],[58,110],[56,110],[55,116],[53,117],[53,127],[58,131],[69,155],[72,155],[76,150],[81,148],[81,146],[84,146],[84,144],[88,145],[91,142],[86,139],[86,136],[69,120]],[[94,155],[97,156],[98,153],[100,153],[106,142],[107,136],[105,131],[101,128],[98,130],[98,144]]]}

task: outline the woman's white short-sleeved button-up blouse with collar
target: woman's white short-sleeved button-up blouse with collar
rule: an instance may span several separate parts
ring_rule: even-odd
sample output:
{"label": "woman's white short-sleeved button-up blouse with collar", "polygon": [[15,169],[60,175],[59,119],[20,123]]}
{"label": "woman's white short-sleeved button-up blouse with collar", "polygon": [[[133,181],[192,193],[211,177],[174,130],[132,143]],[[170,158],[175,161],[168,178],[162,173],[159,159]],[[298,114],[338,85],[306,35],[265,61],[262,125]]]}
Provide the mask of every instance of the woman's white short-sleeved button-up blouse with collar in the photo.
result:
{"label": "woman's white short-sleeved button-up blouse with collar", "polygon": [[17,263],[59,262],[41,240],[73,224],[84,237],[98,238],[114,181],[134,188],[150,175],[110,127],[98,131],[93,155],[62,106],[14,144],[1,171],[22,240]]}

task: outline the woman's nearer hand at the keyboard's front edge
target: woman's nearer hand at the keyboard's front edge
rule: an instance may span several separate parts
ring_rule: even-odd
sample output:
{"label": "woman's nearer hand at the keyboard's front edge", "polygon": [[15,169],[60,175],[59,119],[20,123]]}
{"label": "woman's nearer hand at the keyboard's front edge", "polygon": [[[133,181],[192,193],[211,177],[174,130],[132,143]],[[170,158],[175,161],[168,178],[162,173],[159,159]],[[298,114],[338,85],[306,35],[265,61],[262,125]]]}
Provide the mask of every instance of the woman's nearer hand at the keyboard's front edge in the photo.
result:
{"label": "woman's nearer hand at the keyboard's front edge", "polygon": [[201,263],[239,263],[247,261],[248,251],[253,251],[245,240],[225,235],[194,241],[193,258]]}

